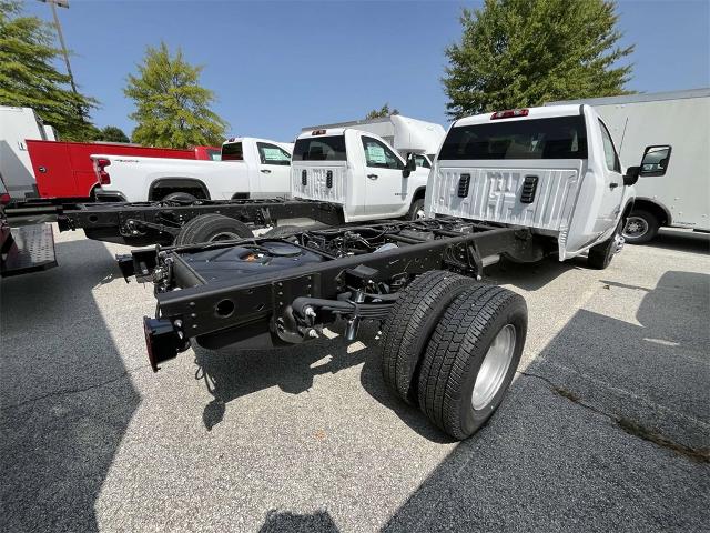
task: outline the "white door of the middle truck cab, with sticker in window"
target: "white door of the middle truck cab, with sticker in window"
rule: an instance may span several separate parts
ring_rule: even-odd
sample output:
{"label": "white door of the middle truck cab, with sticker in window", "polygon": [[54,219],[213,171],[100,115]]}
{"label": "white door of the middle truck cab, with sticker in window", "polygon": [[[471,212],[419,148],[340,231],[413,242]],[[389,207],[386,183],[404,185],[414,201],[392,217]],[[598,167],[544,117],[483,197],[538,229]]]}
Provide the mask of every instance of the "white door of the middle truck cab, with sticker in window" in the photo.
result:
{"label": "white door of the middle truck cab, with sticker in window", "polygon": [[377,139],[362,137],[365,152],[365,213],[396,217],[408,207],[407,180],[402,175],[404,161]]}

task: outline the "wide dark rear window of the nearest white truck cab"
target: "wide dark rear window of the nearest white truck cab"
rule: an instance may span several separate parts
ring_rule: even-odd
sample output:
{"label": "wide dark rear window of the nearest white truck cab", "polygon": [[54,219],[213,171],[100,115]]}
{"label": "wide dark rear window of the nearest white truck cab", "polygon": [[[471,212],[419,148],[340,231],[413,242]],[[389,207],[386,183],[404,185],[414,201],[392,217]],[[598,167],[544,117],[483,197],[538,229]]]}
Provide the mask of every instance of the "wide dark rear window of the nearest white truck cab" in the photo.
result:
{"label": "wide dark rear window of the nearest white truck cab", "polygon": [[454,127],[438,159],[587,159],[585,119],[555,117]]}

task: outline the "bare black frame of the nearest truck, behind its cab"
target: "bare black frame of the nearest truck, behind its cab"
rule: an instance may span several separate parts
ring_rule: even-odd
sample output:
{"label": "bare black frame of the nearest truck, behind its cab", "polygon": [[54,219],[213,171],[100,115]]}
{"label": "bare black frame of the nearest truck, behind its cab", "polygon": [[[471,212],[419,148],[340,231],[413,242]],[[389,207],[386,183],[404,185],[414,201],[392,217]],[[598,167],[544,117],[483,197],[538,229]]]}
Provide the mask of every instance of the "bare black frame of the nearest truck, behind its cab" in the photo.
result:
{"label": "bare black frame of the nearest truck, behind its cab", "polygon": [[500,255],[537,261],[545,241],[529,230],[460,219],[327,228],[285,239],[250,239],[133,251],[116,257],[123,275],[155,285],[145,318],[151,365],[195,338],[204,348],[266,348],[322,335],[347,321],[384,320],[414,276],[448,270],[480,279]]}

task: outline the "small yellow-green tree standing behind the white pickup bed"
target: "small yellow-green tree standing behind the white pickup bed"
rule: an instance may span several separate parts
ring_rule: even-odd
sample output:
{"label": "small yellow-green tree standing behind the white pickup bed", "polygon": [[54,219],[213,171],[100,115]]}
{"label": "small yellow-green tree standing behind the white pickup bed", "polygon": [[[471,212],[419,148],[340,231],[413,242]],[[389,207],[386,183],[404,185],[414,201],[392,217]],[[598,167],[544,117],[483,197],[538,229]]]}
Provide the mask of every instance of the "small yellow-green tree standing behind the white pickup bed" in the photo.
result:
{"label": "small yellow-green tree standing behind the white pickup bed", "polygon": [[202,67],[187,63],[178,49],[148,47],[139,74],[123,90],[135,103],[133,142],[163,148],[221,144],[227,123],[210,110],[214,93],[200,86]]}

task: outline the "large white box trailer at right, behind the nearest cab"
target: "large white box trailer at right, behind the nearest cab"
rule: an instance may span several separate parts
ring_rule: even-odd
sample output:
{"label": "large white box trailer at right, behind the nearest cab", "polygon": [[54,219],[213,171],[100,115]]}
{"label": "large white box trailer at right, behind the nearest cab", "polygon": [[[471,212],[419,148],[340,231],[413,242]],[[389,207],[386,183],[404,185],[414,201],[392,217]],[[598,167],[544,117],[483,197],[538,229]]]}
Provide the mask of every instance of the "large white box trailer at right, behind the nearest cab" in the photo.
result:
{"label": "large white box trailer at right, behind the nearest cab", "polygon": [[548,105],[569,103],[595,108],[623,165],[643,153],[627,242],[650,241],[661,227],[710,231],[710,88]]}

